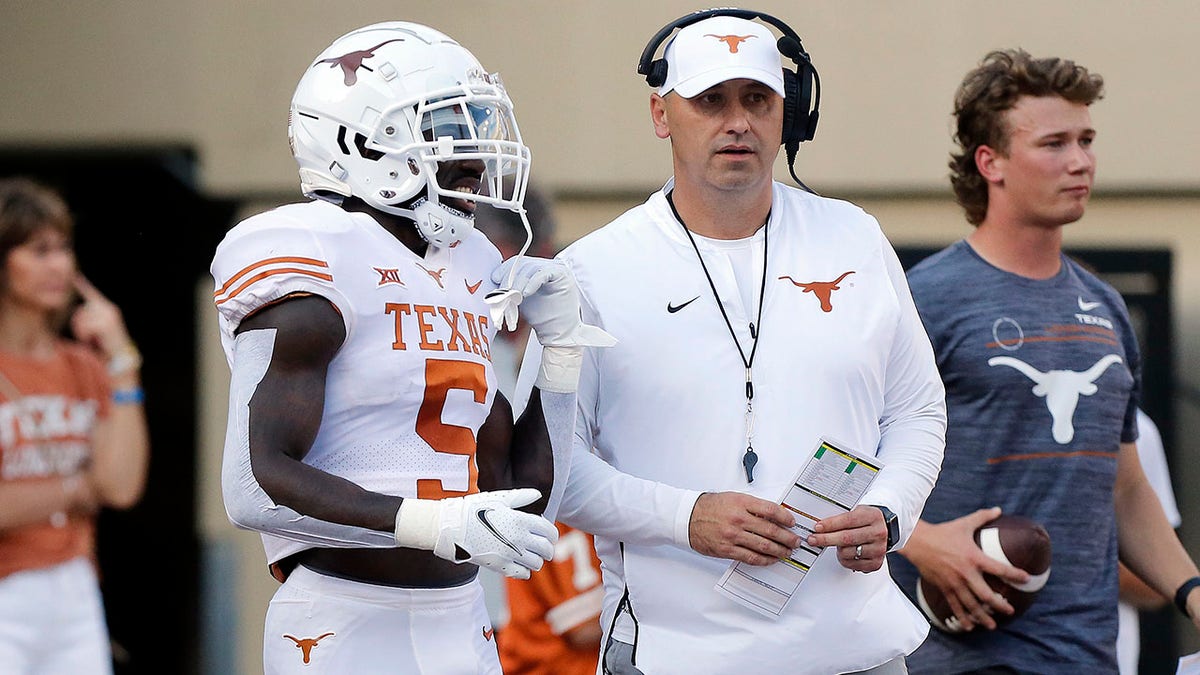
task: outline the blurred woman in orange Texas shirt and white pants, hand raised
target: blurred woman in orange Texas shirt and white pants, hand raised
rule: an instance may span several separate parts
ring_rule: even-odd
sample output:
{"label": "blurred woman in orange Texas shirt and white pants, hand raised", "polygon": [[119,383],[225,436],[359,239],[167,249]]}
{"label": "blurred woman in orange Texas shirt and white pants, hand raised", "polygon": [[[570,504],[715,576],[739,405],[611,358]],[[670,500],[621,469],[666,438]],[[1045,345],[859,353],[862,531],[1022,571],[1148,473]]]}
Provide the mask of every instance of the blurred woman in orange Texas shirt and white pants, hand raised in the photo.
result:
{"label": "blurred woman in orange Texas shirt and white pants, hand raised", "polygon": [[[53,191],[0,180],[0,663],[112,673],[95,514],[142,496],[142,358]],[[80,300],[77,303],[77,300]],[[73,340],[62,338],[70,323]]]}

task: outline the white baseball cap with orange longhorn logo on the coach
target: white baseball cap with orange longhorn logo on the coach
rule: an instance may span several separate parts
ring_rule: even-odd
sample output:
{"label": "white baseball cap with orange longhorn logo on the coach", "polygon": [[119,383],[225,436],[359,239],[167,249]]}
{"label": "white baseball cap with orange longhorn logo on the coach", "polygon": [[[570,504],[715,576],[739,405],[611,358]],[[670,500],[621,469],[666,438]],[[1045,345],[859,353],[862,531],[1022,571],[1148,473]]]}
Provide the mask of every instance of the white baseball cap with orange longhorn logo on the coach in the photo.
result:
{"label": "white baseball cap with orange longhorn logo on the coach", "polygon": [[767,26],[737,17],[712,17],[685,26],[667,44],[668,91],[691,98],[714,84],[746,78],[784,92],[784,62]]}

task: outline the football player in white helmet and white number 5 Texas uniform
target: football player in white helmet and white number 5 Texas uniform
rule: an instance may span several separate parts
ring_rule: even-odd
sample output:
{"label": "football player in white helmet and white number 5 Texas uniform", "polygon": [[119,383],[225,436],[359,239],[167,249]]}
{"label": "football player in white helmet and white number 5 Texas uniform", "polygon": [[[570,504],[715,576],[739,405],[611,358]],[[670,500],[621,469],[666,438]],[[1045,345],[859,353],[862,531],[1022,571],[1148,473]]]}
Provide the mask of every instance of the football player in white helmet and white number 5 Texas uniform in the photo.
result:
{"label": "football player in white helmet and white number 5 Texas uniform", "polygon": [[[498,268],[473,229],[478,203],[523,213],[530,154],[499,77],[450,37],[337,38],[288,132],[310,201],[239,223],[211,268],[226,508],[283,584],[265,670],[499,673],[476,566],[527,578],[551,557],[552,453],[578,352],[606,335],[562,264]],[[548,356],[514,423],[490,350],[518,304]]]}

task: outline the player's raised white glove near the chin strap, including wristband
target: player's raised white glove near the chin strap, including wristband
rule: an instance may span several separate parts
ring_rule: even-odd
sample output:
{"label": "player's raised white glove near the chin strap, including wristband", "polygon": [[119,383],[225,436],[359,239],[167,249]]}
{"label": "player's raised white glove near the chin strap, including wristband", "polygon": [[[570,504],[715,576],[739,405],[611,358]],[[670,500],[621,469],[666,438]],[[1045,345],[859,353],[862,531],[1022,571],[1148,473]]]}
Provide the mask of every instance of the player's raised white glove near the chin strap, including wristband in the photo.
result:
{"label": "player's raised white glove near the chin strap, including wristband", "polygon": [[[515,269],[515,271],[514,271]],[[503,288],[512,276],[512,287]],[[560,261],[516,256],[492,273],[500,289],[487,294],[492,323],[514,330],[517,306],[533,327],[541,352],[535,384],[546,392],[575,392],[583,364],[583,347],[611,347],[617,339],[604,329],[583,323],[580,317],[580,289],[575,275]]]}

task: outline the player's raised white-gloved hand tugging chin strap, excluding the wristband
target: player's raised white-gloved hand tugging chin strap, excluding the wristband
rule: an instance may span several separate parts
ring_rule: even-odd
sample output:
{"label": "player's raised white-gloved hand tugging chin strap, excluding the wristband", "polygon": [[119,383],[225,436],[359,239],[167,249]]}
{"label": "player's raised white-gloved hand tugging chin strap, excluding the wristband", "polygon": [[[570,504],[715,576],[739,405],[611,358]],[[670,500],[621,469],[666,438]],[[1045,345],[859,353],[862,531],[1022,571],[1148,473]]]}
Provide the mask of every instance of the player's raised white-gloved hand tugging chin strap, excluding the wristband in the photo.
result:
{"label": "player's raised white-gloved hand tugging chin strap, excluding the wristband", "polygon": [[[515,274],[512,269],[516,269]],[[512,274],[512,287],[504,288]],[[580,291],[575,275],[559,261],[516,256],[500,263],[492,281],[502,288],[488,293],[492,322],[516,329],[517,305],[546,347],[611,347],[617,340],[580,318]]]}

